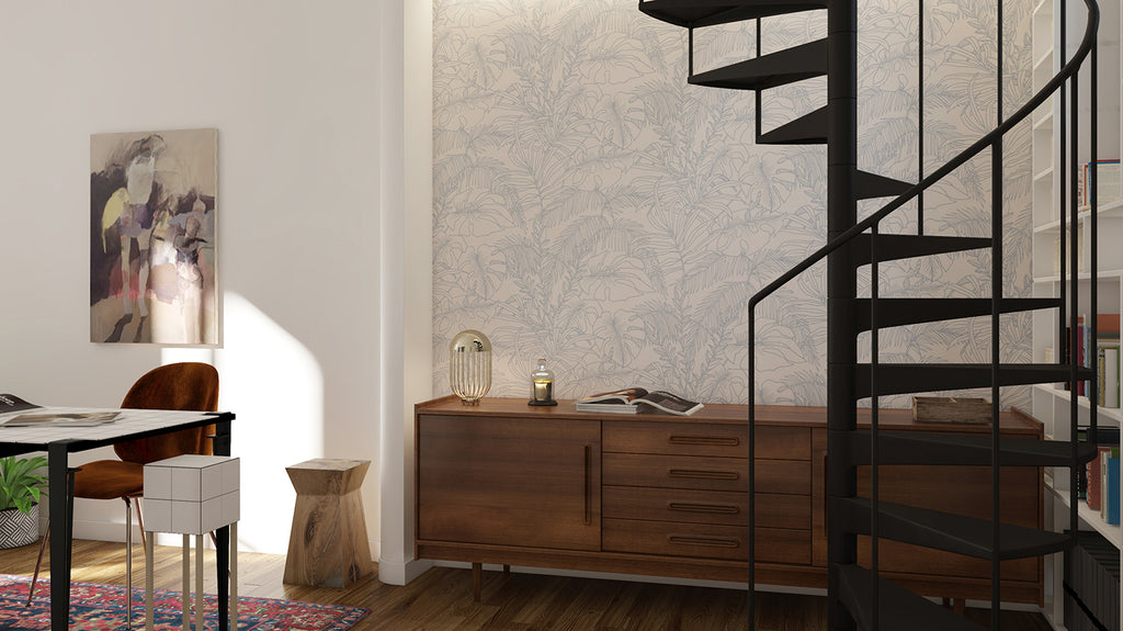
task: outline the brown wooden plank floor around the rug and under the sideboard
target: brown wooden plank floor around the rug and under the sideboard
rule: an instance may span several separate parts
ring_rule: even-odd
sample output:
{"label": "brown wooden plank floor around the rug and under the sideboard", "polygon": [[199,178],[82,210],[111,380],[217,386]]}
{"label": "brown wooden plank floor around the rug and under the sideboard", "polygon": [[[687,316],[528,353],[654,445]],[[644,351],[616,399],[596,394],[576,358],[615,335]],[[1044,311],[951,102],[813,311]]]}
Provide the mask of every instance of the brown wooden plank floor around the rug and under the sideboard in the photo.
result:
{"label": "brown wooden plank floor around the rug and under the sideboard", "polygon": [[[37,551],[38,546],[0,551],[0,573],[29,576]],[[179,552],[175,547],[156,548],[157,588],[181,588]],[[134,585],[141,587],[144,557],[139,546],[134,559]],[[124,585],[124,545],[75,541],[73,566],[74,580]],[[371,610],[356,631],[748,629],[746,593],[736,589],[485,571],[482,597],[475,603],[468,569],[432,568],[404,587],[384,585],[372,576],[348,589],[331,589],[282,584],[282,555],[241,552],[238,566],[241,596]],[[212,571],[207,573],[204,588],[214,592]],[[758,631],[825,631],[825,615],[824,597],[757,594]],[[989,627],[989,612],[968,610],[968,615]],[[1049,631],[1050,627],[1037,613],[1004,612],[1002,629]]]}

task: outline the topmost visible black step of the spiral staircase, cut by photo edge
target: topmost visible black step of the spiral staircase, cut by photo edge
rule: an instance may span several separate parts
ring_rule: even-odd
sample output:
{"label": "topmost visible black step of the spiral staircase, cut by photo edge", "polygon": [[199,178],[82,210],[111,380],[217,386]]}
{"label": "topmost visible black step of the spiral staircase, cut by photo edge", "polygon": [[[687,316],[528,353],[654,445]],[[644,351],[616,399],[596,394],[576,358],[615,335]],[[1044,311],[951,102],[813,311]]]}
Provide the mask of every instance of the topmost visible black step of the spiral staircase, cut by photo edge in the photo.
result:
{"label": "topmost visible black step of the spiral staircase, cut by photo edge", "polygon": [[681,26],[703,27],[825,9],[827,0],[648,0],[639,10]]}

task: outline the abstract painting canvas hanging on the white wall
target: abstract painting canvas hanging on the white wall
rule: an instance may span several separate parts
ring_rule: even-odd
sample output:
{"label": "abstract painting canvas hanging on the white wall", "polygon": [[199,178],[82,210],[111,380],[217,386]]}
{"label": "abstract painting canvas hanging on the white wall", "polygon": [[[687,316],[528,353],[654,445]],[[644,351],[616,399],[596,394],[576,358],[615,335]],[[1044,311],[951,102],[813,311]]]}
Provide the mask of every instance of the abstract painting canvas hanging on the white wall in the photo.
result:
{"label": "abstract painting canvas hanging on the white wall", "polygon": [[90,341],[217,345],[218,130],[90,137]]}

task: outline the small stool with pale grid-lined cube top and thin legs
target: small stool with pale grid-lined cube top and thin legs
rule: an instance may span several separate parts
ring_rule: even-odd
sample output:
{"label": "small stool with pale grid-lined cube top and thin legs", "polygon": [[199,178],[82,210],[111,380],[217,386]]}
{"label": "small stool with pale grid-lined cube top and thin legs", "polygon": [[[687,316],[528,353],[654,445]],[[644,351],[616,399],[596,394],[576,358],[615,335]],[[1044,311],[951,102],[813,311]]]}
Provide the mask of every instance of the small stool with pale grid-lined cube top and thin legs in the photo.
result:
{"label": "small stool with pale grid-lined cube top and thin legs", "polygon": [[[203,534],[230,527],[230,628],[238,628],[240,465],[227,456],[184,455],[144,466],[145,629],[153,629],[156,532],[183,534],[183,631],[191,628],[191,536],[195,536],[195,629],[203,628]],[[221,571],[219,580],[222,579]]]}

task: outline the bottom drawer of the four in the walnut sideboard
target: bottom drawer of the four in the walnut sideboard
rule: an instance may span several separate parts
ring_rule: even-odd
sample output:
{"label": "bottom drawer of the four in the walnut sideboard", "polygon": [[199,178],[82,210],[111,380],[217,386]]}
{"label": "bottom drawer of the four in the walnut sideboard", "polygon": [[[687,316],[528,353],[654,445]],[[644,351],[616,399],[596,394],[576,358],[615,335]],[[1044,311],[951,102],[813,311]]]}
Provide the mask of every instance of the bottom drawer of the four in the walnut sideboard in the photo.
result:
{"label": "bottom drawer of the four in the walnut sideboard", "polygon": [[[606,551],[729,559],[748,563],[748,528],[660,521],[605,519],[601,522]],[[758,528],[758,561],[811,563],[811,531]]]}

